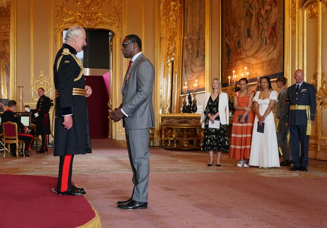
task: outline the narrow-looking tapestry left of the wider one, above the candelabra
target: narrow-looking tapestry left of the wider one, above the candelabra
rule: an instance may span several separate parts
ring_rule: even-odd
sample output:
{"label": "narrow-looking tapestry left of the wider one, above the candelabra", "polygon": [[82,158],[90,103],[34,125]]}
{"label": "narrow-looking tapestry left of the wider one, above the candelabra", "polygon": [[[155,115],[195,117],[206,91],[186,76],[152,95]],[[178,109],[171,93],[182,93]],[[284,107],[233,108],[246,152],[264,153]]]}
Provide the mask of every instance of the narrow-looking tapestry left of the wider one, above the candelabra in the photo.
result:
{"label": "narrow-looking tapestry left of the wider one, above the candelabra", "polygon": [[205,90],[205,3],[184,0],[181,95]]}

